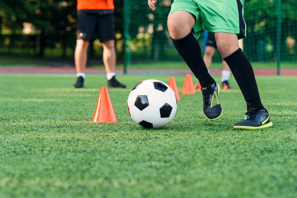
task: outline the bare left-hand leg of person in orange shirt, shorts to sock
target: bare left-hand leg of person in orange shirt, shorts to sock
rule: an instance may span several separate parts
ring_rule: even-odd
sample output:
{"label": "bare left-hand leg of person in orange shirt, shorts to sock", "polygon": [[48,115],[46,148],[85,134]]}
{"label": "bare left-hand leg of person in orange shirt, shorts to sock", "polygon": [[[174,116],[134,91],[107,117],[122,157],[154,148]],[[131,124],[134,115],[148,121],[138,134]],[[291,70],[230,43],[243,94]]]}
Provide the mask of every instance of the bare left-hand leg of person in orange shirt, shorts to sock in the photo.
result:
{"label": "bare left-hand leg of person in orange shirt, shorts to sock", "polygon": [[85,73],[87,63],[87,49],[89,47],[89,43],[89,40],[76,40],[74,54],[76,73]]}

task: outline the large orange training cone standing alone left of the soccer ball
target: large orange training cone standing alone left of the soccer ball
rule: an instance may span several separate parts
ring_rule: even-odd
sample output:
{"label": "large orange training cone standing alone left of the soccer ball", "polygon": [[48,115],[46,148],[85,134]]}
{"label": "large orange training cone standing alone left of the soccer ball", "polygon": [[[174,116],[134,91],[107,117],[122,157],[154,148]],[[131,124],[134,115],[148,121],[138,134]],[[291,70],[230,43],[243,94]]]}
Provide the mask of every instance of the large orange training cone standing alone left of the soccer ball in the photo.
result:
{"label": "large orange training cone standing alone left of the soccer ball", "polygon": [[92,122],[118,122],[106,87],[101,87]]}

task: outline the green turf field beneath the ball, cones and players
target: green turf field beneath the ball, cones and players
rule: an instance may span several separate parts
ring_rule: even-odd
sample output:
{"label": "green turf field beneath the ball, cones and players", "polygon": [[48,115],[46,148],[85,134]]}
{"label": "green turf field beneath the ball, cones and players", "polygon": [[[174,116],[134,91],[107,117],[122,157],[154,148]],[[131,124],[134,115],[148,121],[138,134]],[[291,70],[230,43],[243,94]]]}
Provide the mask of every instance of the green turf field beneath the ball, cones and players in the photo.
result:
{"label": "green turf field beneath the ball, cones and players", "polygon": [[91,123],[105,76],[75,90],[74,75],[0,75],[0,197],[297,197],[297,77],[257,77],[271,128],[233,130],[246,110],[234,79],[218,121],[197,91],[165,127],[140,128],[130,90],[168,78],[118,76],[128,88],[109,95],[121,122]]}

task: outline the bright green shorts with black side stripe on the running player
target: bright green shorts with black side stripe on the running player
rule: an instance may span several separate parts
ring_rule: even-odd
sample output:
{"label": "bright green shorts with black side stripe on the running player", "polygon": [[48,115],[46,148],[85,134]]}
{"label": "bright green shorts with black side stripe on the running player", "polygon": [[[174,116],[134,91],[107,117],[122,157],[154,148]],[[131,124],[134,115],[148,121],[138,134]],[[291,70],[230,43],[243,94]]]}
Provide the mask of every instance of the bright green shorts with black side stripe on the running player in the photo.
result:
{"label": "bright green shorts with black side stripe on the running player", "polygon": [[244,0],[174,0],[169,15],[178,10],[194,15],[196,39],[205,30],[236,33],[238,39],[242,39],[246,36],[243,4]]}

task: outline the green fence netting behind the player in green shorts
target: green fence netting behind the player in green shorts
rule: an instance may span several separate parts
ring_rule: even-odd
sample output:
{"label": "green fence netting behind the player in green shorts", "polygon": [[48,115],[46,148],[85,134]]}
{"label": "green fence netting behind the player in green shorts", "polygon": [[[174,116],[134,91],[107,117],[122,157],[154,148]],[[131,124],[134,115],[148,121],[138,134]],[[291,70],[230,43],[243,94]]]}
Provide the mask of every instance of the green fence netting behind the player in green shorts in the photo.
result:
{"label": "green fence netting behind the player in green shorts", "polygon": [[[167,29],[172,2],[158,1],[153,12],[147,1],[124,1],[125,66],[138,62],[181,60]],[[297,63],[296,0],[246,0],[244,18],[247,24],[244,52],[252,62],[269,64],[272,68],[281,63]],[[202,47],[203,36],[198,42]],[[220,61],[222,58],[217,52],[214,62]]]}

